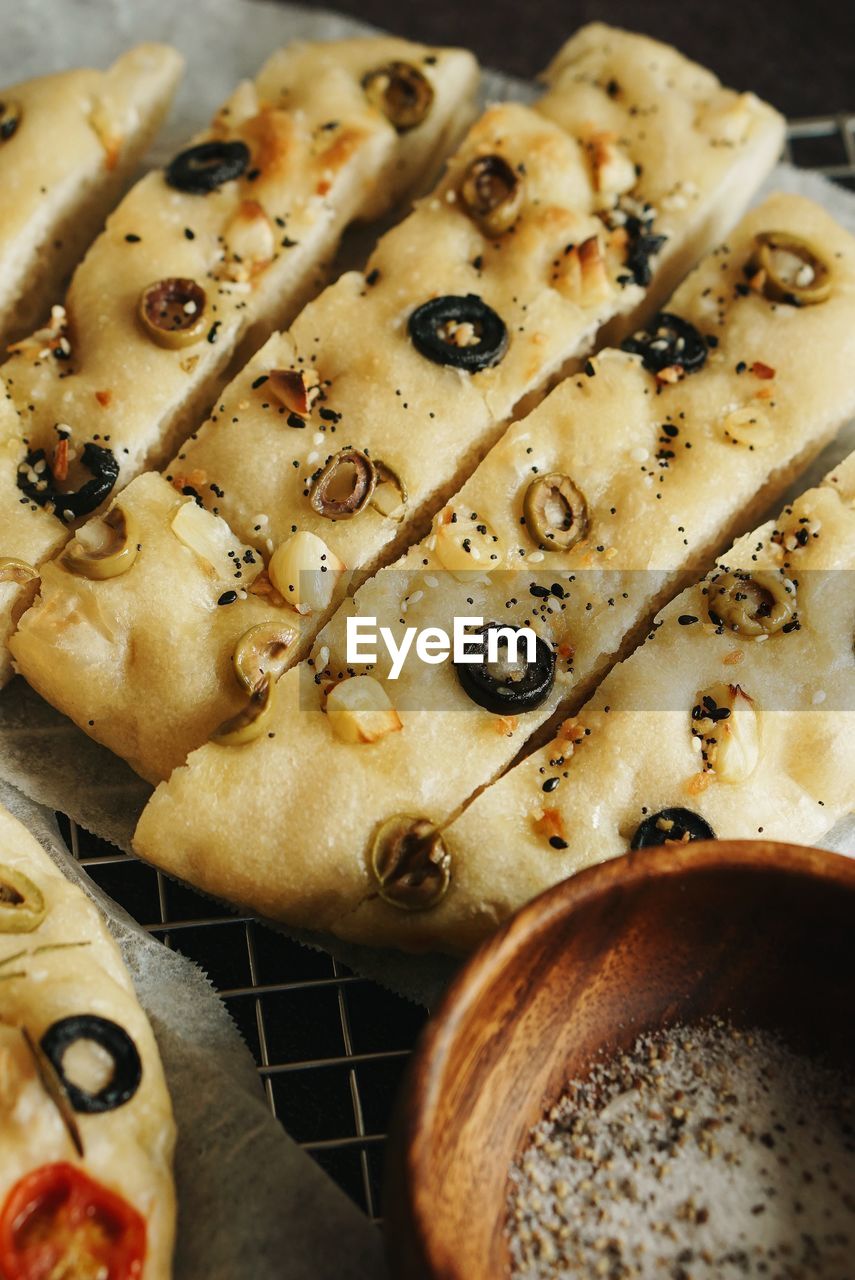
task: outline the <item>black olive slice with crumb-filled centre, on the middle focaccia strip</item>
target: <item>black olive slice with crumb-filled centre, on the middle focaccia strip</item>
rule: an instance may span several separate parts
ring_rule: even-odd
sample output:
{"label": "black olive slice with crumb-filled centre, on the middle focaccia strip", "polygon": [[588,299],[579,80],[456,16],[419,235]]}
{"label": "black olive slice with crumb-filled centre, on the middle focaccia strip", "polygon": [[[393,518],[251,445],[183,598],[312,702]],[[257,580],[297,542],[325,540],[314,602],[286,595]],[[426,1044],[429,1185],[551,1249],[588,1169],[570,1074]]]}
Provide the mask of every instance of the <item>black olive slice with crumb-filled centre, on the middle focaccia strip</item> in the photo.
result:
{"label": "black olive slice with crumb-filled centre, on the middle focaccia strip", "polygon": [[508,349],[504,320],[475,293],[422,302],[408,329],[413,347],[427,360],[470,374],[498,365]]}

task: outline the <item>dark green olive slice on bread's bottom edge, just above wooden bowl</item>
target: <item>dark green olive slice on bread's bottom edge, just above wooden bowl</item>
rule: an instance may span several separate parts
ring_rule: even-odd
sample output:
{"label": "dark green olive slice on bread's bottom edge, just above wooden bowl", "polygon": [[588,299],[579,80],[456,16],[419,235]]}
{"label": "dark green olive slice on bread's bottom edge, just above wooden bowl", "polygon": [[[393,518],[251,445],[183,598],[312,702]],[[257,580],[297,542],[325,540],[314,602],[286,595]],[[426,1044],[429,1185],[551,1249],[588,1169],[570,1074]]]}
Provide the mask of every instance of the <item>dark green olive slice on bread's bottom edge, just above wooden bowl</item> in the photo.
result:
{"label": "dark green olive slice on bread's bottom edge, just above wooden bowl", "polygon": [[404,911],[436,906],[452,878],[452,858],[426,818],[384,822],[371,846],[371,872],[384,902]]}

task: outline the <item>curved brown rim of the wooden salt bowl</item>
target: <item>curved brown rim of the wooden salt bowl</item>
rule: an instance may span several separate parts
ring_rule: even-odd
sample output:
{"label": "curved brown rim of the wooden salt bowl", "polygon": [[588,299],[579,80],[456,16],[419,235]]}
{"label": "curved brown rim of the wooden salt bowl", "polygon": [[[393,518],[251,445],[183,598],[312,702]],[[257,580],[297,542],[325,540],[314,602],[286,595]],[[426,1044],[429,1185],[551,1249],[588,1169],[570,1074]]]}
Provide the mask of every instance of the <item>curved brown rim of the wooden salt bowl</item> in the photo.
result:
{"label": "curved brown rim of the wooden salt bowl", "polygon": [[513,963],[532,933],[548,929],[559,919],[568,919],[600,895],[643,881],[649,883],[651,878],[708,870],[760,870],[776,877],[808,877],[855,891],[855,859],[845,854],[777,841],[710,840],[635,850],[598,863],[552,886],[516,911],[474,952],[443,995],[416,1047],[397,1107],[394,1146],[406,1172],[402,1201],[407,1206],[410,1230],[416,1231],[419,1249],[431,1267],[435,1265],[434,1242],[424,1230],[429,1215],[420,1208],[419,1170],[430,1158],[431,1133],[448,1056],[461,1024],[484,989]]}

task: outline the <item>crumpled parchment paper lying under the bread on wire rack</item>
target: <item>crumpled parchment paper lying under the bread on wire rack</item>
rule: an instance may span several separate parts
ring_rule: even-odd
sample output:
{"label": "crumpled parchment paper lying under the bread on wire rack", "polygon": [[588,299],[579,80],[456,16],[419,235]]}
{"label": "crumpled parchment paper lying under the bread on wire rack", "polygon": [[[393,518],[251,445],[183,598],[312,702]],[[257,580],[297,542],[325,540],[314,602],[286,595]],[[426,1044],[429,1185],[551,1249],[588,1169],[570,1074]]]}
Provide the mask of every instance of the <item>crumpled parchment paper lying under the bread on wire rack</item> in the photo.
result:
{"label": "crumpled parchment paper lying under the bread on wire rack", "polygon": [[[184,52],[186,79],[152,152],[155,163],[202,125],[234,82],[251,76],[276,45],[369,29],[319,9],[248,0],[146,0],[142,5],[133,0],[17,0],[14,6],[3,0],[3,6],[0,83],[77,61],[105,65],[142,38],[165,40]],[[567,35],[570,29],[557,32],[557,44]],[[485,95],[490,100],[530,100],[534,91],[488,74]],[[758,198],[772,189],[818,200],[855,233],[855,197],[815,174],[781,166]],[[351,239],[343,260],[358,257],[364,243]],[[855,424],[841,433],[794,493],[809,488],[852,449]],[[123,762],[92,742],[22,680],[0,695],[0,778],[124,850],[150,794]],[[18,801],[18,812],[22,805],[24,801]],[[79,869],[64,858],[47,817],[31,808],[27,820],[37,823],[69,874],[81,878]],[[855,820],[840,823],[823,844],[855,852]],[[206,979],[142,934],[97,891],[95,896],[120,937],[155,1021],[175,1098],[182,1128],[180,1280],[379,1275],[376,1240],[365,1219],[266,1116],[253,1088],[248,1055],[241,1051]],[[407,957],[319,936],[289,936],[325,947],[358,973],[427,1007],[454,970],[443,957]],[[260,1167],[264,1179],[255,1176]],[[242,1230],[243,1222],[251,1229]]]}

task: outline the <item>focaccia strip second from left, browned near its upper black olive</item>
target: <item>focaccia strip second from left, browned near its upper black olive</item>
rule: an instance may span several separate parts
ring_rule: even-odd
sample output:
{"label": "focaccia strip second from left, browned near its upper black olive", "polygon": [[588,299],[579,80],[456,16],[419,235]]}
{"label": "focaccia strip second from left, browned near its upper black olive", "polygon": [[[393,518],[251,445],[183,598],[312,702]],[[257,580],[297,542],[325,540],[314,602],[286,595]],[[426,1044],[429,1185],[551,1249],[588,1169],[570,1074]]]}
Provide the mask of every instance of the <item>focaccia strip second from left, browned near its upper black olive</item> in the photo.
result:
{"label": "focaccia strip second from left, browned near its upper black olive", "polygon": [[[412,104],[402,114],[402,76],[421,90],[420,116]],[[36,563],[169,460],[238,347],[262,342],[320,285],[344,227],[433,169],[476,81],[462,50],[392,37],[293,45],[137,183],[65,307],[0,369],[22,417],[13,479],[55,513],[52,536],[40,522]],[[29,515],[19,506],[14,525]],[[17,536],[4,529],[4,543]]]}

